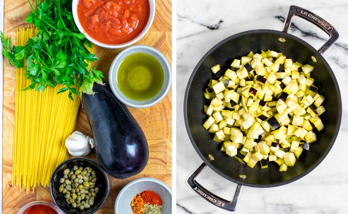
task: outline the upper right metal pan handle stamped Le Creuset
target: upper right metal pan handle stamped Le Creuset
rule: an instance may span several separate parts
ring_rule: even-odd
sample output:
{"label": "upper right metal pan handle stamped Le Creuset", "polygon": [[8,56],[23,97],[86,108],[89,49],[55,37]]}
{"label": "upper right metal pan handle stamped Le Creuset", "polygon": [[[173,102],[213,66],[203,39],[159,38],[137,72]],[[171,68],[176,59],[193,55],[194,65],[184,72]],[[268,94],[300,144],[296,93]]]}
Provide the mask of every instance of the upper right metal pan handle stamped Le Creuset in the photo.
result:
{"label": "upper right metal pan handle stamped Le Creuset", "polygon": [[323,18],[312,13],[311,11],[297,7],[295,5],[292,5],[289,8],[287,18],[285,19],[285,22],[284,22],[284,28],[283,28],[284,32],[287,33],[289,31],[291,20],[294,15],[297,15],[303,19],[306,19],[307,21],[312,22],[313,24],[317,25],[321,30],[323,30],[325,33],[327,33],[330,36],[329,40],[325,42],[325,44],[323,44],[319,48],[318,51],[321,54],[324,53],[327,49],[329,49],[329,47],[333,45],[335,41],[338,39],[339,37],[338,31],[329,22],[325,21]]}

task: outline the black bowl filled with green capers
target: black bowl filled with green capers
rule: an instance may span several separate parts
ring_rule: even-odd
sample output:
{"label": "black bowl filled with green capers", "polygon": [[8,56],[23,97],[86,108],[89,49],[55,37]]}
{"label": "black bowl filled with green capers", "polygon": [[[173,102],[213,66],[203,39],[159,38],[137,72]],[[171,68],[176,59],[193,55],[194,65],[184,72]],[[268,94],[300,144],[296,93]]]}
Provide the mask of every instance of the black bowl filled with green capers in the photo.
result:
{"label": "black bowl filled with green capers", "polygon": [[106,173],[84,157],[62,162],[52,173],[50,192],[54,203],[67,214],[91,214],[102,207],[109,194]]}

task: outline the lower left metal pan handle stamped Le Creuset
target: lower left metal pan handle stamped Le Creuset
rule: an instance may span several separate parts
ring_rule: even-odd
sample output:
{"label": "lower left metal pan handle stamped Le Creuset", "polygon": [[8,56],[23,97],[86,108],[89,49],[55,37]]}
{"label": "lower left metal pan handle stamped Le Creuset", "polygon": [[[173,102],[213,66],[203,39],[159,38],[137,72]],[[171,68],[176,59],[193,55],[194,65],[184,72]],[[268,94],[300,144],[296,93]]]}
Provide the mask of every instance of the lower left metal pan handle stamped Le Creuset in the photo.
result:
{"label": "lower left metal pan handle stamped Le Creuset", "polygon": [[203,163],[201,164],[201,166],[199,166],[197,168],[197,170],[195,170],[192,175],[190,175],[190,177],[187,178],[186,183],[187,185],[198,195],[200,195],[202,198],[204,198],[206,201],[208,201],[209,203],[226,209],[228,211],[233,212],[236,208],[237,208],[237,203],[238,203],[238,199],[241,195],[241,191],[242,191],[242,185],[238,184],[237,188],[234,192],[234,197],[232,201],[227,201],[226,199],[223,199],[215,194],[213,194],[212,192],[210,192],[209,190],[205,189],[199,182],[197,182],[196,178],[197,176],[204,170],[204,168],[206,168],[206,164]]}

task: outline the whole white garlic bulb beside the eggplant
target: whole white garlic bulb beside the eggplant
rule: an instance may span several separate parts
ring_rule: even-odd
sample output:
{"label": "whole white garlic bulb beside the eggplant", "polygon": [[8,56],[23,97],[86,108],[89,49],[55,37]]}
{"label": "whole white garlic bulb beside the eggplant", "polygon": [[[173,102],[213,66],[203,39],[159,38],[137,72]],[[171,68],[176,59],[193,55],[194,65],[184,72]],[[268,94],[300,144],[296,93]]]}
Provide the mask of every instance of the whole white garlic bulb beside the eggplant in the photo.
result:
{"label": "whole white garlic bulb beside the eggplant", "polygon": [[73,156],[88,155],[91,149],[94,148],[94,141],[83,133],[74,131],[66,139],[66,147],[68,152]]}

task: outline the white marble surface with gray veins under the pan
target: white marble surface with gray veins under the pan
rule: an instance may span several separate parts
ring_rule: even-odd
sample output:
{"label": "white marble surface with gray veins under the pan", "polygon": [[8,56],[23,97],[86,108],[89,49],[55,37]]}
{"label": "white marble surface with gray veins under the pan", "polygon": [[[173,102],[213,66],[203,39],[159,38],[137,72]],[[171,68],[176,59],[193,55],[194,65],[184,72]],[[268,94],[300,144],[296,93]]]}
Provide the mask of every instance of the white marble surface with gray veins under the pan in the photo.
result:
{"label": "white marble surface with gray veins under the pan", "polygon": [[[348,213],[347,0],[177,0],[177,213],[229,213],[199,198],[184,183],[187,176],[202,163],[188,139],[183,118],[183,97],[194,66],[214,44],[230,35],[254,29],[281,30],[281,20],[284,20],[290,5],[297,5],[318,14],[340,32],[339,40],[323,55],[334,70],[342,92],[343,115],[340,132],[329,155],[309,175],[277,188],[244,187],[235,213]],[[292,28],[291,33],[316,48],[328,37],[300,18],[293,20],[297,29]],[[199,181],[214,193],[232,198],[235,184],[211,170],[206,170]]]}

